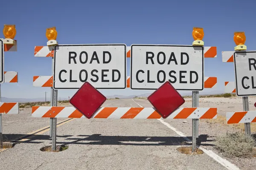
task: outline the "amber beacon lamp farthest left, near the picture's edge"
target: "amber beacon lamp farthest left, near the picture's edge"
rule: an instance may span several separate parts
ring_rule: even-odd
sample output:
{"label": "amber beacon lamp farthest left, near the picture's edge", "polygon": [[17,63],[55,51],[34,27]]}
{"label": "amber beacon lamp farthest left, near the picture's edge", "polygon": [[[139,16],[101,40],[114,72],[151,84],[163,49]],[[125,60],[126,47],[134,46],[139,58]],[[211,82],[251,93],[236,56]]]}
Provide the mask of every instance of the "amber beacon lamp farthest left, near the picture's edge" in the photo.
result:
{"label": "amber beacon lamp farthest left, near the picture's edge", "polygon": [[16,44],[16,41],[13,40],[16,35],[15,25],[3,25],[3,35],[5,37],[4,44]]}

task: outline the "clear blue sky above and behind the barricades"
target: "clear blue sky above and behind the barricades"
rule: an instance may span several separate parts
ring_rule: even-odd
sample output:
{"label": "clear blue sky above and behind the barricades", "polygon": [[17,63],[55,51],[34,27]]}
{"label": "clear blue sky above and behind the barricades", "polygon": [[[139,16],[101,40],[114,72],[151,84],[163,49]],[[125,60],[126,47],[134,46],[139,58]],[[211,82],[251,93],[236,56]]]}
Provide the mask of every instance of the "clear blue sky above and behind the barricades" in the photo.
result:
{"label": "clear blue sky above and behind the barricades", "polygon": [[[46,45],[46,28],[55,26],[59,44],[170,44],[191,45],[192,28],[204,28],[205,46],[217,46],[217,58],[205,59],[205,76],[234,81],[233,63],[221,60],[221,51],[233,51],[233,33],[245,31],[247,50],[256,50],[256,1],[241,0],[12,0],[1,2],[0,26],[15,24],[17,52],[5,53],[5,71],[17,71],[18,83],[4,83],[2,96],[44,97],[49,88],[32,86],[33,76],[51,75],[51,59],[34,57],[36,45]],[[6,7],[6,8],[5,8]],[[8,8],[9,7],[9,8]],[[239,20],[241,22],[239,22]],[[1,31],[2,32],[2,31]],[[0,33],[0,37],[3,34]],[[130,59],[128,59],[128,74]],[[102,90],[113,94],[145,94],[151,91]],[[75,91],[59,90],[62,99]]]}

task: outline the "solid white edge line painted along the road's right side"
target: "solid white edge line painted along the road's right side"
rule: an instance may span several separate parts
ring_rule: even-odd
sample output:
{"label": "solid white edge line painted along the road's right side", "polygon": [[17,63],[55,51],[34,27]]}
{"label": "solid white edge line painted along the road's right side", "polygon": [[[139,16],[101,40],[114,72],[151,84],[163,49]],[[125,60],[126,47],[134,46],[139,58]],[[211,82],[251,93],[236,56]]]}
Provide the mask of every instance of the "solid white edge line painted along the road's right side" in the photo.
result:
{"label": "solid white edge line painted along the road's right side", "polygon": [[[132,99],[134,101],[134,99]],[[135,102],[135,101],[134,101]],[[135,102],[137,105],[139,105],[137,102]],[[139,105],[141,108],[143,108],[141,105]],[[172,129],[173,131],[175,131],[175,133],[177,133],[179,136],[183,137],[184,139],[186,139],[186,141],[191,142],[190,139],[188,139],[186,137],[186,135],[180,131],[178,131],[175,127],[172,127],[171,125],[169,125],[169,123],[164,122],[163,119],[158,119],[161,123],[163,123],[164,125],[166,125],[167,127],[169,127],[170,129]],[[220,156],[218,156],[216,153],[214,153],[212,150],[207,150],[204,149],[202,147],[199,147],[201,150],[204,151],[204,153],[206,153],[208,156],[212,157],[212,159],[214,159],[215,161],[217,161],[218,163],[220,163],[222,166],[226,167],[228,170],[240,170],[239,167],[237,167],[236,165],[232,164],[231,162],[229,162],[227,159],[221,158]]]}

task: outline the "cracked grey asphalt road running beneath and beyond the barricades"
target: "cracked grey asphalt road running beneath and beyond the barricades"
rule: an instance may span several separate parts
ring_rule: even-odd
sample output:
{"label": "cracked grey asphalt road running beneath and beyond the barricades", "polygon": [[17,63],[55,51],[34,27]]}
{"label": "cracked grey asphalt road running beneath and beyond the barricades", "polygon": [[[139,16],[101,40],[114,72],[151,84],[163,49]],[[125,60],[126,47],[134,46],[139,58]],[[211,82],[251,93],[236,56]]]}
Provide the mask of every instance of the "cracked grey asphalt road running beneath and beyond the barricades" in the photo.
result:
{"label": "cracked grey asphalt road running beneath and beyond the barricades", "polygon": [[[107,107],[152,107],[146,100],[107,100]],[[185,155],[177,151],[190,142],[170,129],[183,130],[180,123],[158,119],[69,119],[57,127],[62,152],[42,152],[51,145],[49,118],[32,118],[31,109],[3,116],[3,134],[9,140],[42,129],[15,147],[0,152],[3,170],[226,170],[209,154]],[[61,122],[66,119],[58,119]],[[181,121],[181,120],[180,120]],[[182,122],[182,121],[181,121]],[[190,121],[189,121],[190,122]],[[45,127],[45,128],[44,128]],[[48,128],[49,129],[49,128]],[[14,135],[13,135],[14,134]],[[191,135],[190,135],[191,136]],[[205,142],[207,146],[207,142]]]}

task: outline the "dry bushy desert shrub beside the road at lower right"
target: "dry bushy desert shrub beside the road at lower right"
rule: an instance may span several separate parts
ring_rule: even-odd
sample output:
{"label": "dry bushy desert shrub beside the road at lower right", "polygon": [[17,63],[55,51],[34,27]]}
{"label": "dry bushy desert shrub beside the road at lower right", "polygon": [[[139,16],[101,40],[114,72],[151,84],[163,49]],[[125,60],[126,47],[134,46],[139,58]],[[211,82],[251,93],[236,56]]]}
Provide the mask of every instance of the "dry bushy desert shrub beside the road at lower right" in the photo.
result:
{"label": "dry bushy desert shrub beside the road at lower right", "polygon": [[256,155],[256,141],[246,133],[226,133],[216,137],[215,148],[227,157],[253,157]]}

